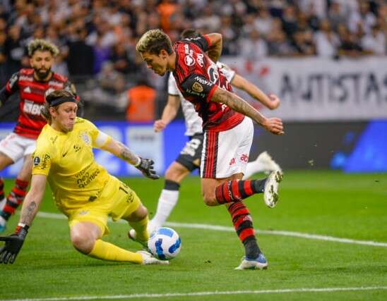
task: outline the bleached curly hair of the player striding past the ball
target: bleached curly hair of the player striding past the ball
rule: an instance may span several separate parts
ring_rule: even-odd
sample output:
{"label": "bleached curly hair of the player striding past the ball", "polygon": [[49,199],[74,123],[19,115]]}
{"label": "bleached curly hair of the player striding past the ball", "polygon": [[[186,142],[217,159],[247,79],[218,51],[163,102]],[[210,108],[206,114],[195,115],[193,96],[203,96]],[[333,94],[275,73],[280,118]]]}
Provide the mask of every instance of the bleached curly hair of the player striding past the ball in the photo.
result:
{"label": "bleached curly hair of the player striding past the ball", "polygon": [[140,53],[160,54],[164,49],[168,54],[172,54],[172,42],[162,30],[148,30],[136,44],[136,50]]}

